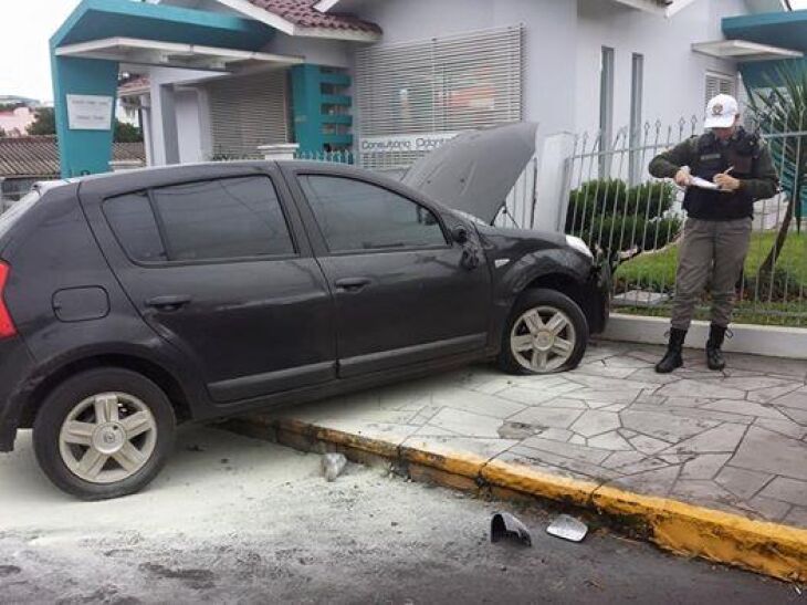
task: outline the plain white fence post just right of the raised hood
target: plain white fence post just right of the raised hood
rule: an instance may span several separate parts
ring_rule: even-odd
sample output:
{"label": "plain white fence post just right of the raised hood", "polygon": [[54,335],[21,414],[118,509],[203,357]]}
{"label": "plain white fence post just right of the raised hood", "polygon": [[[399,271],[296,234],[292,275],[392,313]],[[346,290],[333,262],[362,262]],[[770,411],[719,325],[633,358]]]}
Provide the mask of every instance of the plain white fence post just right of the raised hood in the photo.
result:
{"label": "plain white fence post just right of the raised hood", "polygon": [[563,232],[568,207],[566,159],[572,156],[575,137],[570,133],[547,136],[541,155],[535,186],[535,215],[531,227]]}

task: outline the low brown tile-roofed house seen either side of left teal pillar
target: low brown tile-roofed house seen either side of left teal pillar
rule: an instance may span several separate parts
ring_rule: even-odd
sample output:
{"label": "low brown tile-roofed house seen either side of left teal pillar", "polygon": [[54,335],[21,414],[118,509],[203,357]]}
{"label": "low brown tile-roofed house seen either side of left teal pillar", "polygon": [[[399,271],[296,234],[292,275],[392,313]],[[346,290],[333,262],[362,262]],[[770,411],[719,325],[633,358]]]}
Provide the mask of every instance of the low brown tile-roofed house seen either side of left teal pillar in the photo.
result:
{"label": "low brown tile-roofed house seen either side of left teal pillar", "polygon": [[[113,161],[144,166],[143,143],[115,143]],[[60,176],[54,136],[0,138],[0,212],[28,194],[39,180]]]}

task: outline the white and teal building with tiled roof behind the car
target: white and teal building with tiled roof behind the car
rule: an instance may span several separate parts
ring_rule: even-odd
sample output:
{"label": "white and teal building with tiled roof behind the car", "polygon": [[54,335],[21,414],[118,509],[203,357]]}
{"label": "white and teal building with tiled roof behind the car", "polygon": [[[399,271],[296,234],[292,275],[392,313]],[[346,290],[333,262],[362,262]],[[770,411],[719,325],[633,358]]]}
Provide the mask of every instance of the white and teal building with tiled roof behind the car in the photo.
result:
{"label": "white and teal building with tiled roof behind the car", "polygon": [[[149,165],[354,150],[406,166],[458,132],[527,119],[601,132],[700,116],[745,61],[726,40],[780,0],[84,0],[52,40],[65,175],[106,169],[111,136],[70,127],[67,95],[119,94]],[[794,13],[795,14],[795,13]],[[99,33],[103,32],[103,33]],[[87,79],[92,71],[93,77]],[[103,116],[102,116],[103,117]]]}

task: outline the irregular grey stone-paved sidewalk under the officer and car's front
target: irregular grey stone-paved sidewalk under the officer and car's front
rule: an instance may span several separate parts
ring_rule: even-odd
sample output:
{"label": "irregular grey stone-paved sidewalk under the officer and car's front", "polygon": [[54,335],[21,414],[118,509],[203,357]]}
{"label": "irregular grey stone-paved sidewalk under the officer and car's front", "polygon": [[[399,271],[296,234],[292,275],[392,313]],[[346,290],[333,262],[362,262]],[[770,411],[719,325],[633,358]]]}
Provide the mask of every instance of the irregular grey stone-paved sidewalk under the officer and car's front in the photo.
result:
{"label": "irregular grey stone-paved sidewalk under the officer and car's front", "polygon": [[807,526],[807,362],[729,355],[714,373],[690,351],[658,375],[661,354],[594,343],[565,374],[473,366],[284,415]]}

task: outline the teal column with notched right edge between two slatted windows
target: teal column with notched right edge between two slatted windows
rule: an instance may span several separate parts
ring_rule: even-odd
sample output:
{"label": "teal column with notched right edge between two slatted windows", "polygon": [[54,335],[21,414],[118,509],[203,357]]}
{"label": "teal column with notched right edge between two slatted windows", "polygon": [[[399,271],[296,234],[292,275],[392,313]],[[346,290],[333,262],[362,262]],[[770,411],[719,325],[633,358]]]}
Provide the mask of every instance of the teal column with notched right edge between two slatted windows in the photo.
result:
{"label": "teal column with notched right edge between two slatted windows", "polygon": [[345,132],[353,125],[350,95],[329,90],[349,85],[347,73],[311,63],[292,67],[294,138],[301,152],[321,153],[326,146],[329,150],[348,149],[353,145],[353,135]]}

